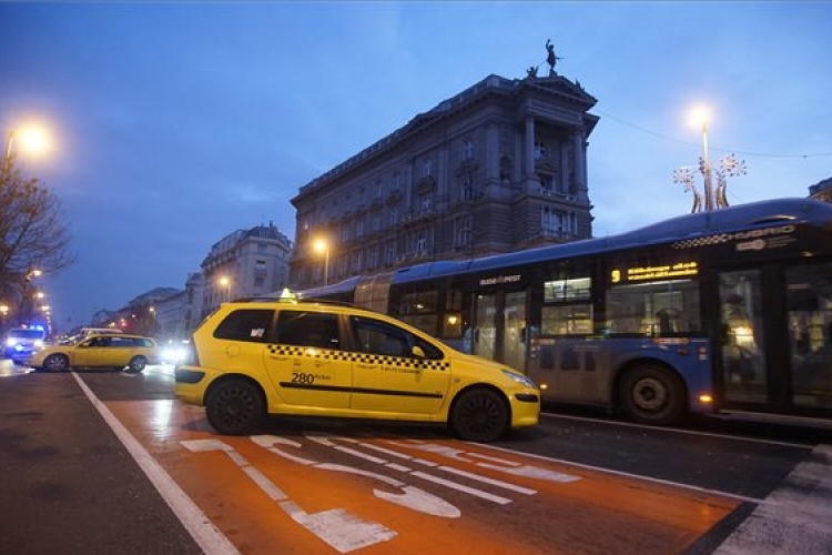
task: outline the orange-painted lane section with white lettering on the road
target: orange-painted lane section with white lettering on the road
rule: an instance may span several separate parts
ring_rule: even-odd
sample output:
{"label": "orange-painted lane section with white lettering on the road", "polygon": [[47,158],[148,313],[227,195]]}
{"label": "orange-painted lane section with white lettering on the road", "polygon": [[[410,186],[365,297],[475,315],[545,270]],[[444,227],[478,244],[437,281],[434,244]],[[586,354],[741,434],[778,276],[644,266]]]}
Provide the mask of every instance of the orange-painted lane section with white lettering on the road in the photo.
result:
{"label": "orange-painted lane section with white lettering on the road", "polygon": [[177,402],[111,406],[246,554],[676,554],[740,503],[454,438],[217,436]]}

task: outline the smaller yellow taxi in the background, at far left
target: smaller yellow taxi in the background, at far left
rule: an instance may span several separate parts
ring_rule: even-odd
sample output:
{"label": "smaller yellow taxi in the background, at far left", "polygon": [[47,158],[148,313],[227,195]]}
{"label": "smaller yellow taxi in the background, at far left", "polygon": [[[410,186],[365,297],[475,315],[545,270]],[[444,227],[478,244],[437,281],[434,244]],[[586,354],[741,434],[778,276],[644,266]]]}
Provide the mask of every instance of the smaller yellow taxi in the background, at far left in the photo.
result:
{"label": "smaller yellow taxi in the background, at far left", "polygon": [[151,337],[125,333],[91,334],[67,344],[35,351],[28,364],[34,370],[62,372],[69,369],[128,369],[141,372],[156,364],[156,343]]}

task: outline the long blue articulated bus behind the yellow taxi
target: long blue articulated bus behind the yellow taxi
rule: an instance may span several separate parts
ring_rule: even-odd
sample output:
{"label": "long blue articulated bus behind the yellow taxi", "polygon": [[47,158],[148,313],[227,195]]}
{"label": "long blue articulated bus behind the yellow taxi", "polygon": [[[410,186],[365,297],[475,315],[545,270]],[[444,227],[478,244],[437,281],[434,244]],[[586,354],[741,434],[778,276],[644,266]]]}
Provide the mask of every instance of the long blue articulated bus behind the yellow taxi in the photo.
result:
{"label": "long blue articulated bus behind the yellow taxi", "polygon": [[607,238],[302,291],[388,313],[526,372],[546,403],[649,424],[832,422],[832,204],[687,214]]}

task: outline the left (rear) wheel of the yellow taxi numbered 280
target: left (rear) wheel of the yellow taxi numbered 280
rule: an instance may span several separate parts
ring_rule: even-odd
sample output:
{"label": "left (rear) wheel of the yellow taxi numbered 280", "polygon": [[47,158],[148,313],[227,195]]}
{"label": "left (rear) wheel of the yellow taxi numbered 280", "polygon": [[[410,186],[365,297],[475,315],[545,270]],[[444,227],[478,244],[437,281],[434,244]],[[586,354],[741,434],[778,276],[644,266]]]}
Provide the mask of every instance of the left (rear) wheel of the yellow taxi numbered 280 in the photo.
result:
{"label": "left (rear) wheel of the yellow taxi numbered 280", "polygon": [[211,389],[205,400],[211,425],[226,435],[245,435],[263,421],[265,402],[261,391],[247,380],[229,379]]}

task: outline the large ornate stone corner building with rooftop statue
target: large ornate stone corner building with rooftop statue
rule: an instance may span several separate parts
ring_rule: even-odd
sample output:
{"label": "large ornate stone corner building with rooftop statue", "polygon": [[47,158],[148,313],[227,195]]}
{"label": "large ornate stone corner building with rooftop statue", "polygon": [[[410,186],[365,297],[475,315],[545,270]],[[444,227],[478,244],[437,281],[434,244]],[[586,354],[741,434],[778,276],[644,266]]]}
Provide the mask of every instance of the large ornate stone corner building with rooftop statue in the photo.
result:
{"label": "large ornate stone corner building with rooftop statue", "polygon": [[293,286],[590,238],[595,103],[554,70],[529,70],[416,115],[292,199]]}

